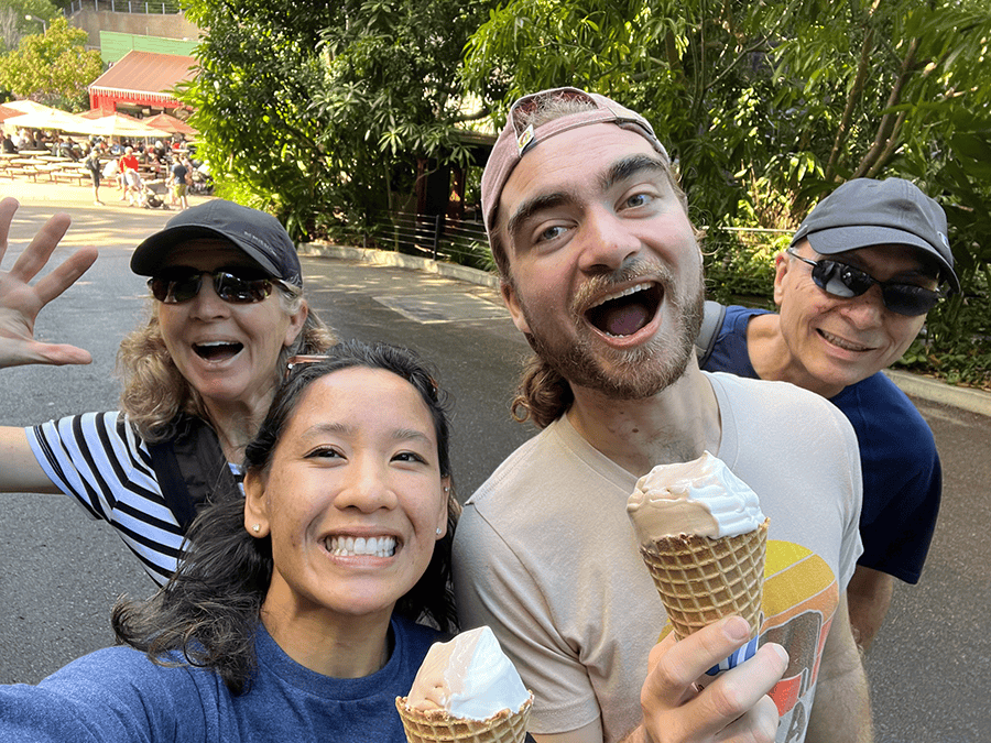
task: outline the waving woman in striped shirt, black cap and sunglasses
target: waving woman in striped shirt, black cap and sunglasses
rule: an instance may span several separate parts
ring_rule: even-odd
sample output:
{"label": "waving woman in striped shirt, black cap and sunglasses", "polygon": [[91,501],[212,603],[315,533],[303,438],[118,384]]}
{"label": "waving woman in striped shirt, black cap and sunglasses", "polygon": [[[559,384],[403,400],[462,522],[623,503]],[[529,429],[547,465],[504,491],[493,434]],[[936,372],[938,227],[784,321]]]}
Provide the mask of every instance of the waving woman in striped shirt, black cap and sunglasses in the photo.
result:
{"label": "waving woman in striped shirt, black cap and sunglasses", "polygon": [[[17,208],[0,201],[0,259]],[[97,256],[80,249],[30,284],[68,225],[52,217],[0,272],[0,368],[90,361],[32,337],[37,313]],[[138,245],[131,269],[150,276],[149,313],[121,341],[121,409],[0,427],[0,492],[69,495],[162,584],[197,510],[216,492],[239,492],[244,447],[286,360],[334,338],[309,312],[293,241],[255,209],[211,199],[184,211]]]}

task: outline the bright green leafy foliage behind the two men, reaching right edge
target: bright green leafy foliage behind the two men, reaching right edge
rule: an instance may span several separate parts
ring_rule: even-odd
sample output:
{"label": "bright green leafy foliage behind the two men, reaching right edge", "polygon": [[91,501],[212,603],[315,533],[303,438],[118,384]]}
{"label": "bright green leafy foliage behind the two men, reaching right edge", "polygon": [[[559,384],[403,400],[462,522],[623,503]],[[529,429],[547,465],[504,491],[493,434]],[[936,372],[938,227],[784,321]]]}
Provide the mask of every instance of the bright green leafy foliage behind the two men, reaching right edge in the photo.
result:
{"label": "bright green leafy foliage behind the two men, reaching right edge", "polygon": [[725,227],[792,230],[848,178],[914,181],[947,210],[965,285],[914,358],[973,346],[967,363],[987,374],[989,44],[988,0],[511,0],[472,35],[464,74],[501,111],[576,85],[643,112],[709,228],[710,264],[751,263],[722,250]]}

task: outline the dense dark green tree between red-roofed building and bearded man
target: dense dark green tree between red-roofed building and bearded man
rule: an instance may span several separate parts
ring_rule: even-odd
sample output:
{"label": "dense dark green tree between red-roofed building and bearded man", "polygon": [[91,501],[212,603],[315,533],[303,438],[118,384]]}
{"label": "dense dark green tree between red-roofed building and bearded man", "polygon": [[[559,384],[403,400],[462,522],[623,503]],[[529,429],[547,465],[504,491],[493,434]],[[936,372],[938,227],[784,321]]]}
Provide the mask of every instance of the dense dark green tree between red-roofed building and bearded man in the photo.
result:
{"label": "dense dark green tree between red-roofed building and bearded man", "polygon": [[416,157],[466,157],[457,68],[479,8],[189,0],[207,32],[181,95],[225,193],[306,236],[390,206]]}

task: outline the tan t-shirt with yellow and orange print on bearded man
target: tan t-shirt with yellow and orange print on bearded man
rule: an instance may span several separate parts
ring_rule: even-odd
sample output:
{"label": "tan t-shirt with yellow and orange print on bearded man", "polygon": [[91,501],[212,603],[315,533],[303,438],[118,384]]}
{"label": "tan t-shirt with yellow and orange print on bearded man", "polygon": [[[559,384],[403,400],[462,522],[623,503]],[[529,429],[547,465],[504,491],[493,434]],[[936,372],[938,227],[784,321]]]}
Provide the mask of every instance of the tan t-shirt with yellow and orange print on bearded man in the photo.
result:
{"label": "tan t-shirt with yellow and orange print on bearded man", "polygon": [[[792,658],[775,689],[778,741],[802,741],[818,659],[862,551],[860,459],[849,422],[781,382],[707,374],[714,452],[771,518],[764,637]],[[647,654],[666,619],[627,516],[635,478],[563,417],[513,452],[466,504],[455,536],[461,626],[492,627],[535,700],[530,730],[601,717],[606,741],[640,723]]]}

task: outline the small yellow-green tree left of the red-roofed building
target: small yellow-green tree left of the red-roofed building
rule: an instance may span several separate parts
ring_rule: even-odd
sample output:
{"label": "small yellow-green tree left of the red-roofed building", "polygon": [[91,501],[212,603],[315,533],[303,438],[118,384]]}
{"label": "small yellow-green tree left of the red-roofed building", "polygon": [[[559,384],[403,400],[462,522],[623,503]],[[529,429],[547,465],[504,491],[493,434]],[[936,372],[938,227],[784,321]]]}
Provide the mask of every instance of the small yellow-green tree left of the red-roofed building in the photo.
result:
{"label": "small yellow-green tree left of the red-roofed building", "polygon": [[0,87],[22,98],[65,109],[84,108],[86,86],[102,72],[100,53],[87,52],[88,35],[58,17],[44,34],[21,39],[0,57]]}

